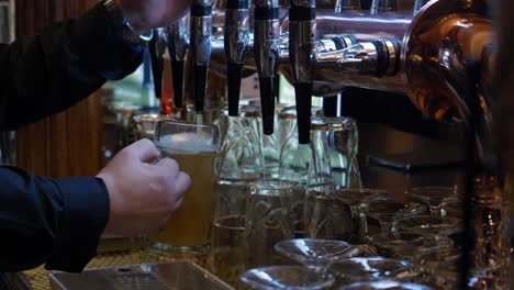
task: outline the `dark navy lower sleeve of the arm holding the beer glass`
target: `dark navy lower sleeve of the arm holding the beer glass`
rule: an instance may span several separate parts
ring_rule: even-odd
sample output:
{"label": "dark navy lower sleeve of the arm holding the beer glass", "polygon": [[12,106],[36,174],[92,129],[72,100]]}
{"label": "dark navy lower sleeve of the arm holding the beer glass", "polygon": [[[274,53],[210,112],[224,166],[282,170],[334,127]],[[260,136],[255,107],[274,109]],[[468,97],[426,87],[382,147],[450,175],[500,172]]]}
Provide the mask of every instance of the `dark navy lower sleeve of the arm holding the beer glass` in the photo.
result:
{"label": "dark navy lower sleeve of the arm holding the beer glass", "polygon": [[0,271],[43,263],[81,271],[109,220],[109,196],[96,177],[46,179],[0,167]]}

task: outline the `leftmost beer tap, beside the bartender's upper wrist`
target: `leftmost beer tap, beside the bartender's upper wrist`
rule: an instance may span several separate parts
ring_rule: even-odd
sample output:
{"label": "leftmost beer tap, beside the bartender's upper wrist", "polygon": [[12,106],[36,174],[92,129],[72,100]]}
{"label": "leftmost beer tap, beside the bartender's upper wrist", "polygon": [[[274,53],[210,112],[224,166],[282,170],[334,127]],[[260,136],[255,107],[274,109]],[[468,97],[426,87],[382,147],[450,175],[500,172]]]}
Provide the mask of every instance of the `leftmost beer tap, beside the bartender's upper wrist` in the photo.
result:
{"label": "leftmost beer tap, beside the bartender's upper wrist", "polygon": [[166,51],[166,34],[164,29],[154,30],[154,37],[148,42],[148,51],[152,62],[152,75],[154,78],[155,97],[163,97],[163,71],[164,71],[164,54]]}

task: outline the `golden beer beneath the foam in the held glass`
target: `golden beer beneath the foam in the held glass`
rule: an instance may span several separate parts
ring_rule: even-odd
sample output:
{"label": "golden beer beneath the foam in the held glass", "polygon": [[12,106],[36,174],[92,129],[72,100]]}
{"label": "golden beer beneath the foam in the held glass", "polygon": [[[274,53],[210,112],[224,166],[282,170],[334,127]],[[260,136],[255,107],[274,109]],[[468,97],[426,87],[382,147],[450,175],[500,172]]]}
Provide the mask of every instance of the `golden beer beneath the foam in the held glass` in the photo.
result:
{"label": "golden beer beneath the foam in the held glass", "polygon": [[165,227],[148,235],[148,239],[154,247],[164,250],[202,253],[209,245],[212,223],[213,163],[216,152],[212,150],[212,146],[204,147],[206,150],[191,152],[185,150],[182,146],[180,150],[170,152],[174,149],[172,144],[166,147],[157,144],[157,147],[163,157],[177,160],[180,170],[191,177],[191,187],[185,194],[182,205],[171,213]]}

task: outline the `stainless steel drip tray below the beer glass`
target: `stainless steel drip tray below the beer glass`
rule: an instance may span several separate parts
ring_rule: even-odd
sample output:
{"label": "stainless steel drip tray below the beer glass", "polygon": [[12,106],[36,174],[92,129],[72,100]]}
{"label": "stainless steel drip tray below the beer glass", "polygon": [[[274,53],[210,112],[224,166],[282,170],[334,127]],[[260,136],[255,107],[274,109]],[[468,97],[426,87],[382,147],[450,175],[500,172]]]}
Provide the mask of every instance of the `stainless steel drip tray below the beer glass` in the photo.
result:
{"label": "stainless steel drip tray below the beer glass", "polygon": [[88,269],[81,274],[52,271],[53,290],[226,290],[233,289],[201,268],[183,260]]}

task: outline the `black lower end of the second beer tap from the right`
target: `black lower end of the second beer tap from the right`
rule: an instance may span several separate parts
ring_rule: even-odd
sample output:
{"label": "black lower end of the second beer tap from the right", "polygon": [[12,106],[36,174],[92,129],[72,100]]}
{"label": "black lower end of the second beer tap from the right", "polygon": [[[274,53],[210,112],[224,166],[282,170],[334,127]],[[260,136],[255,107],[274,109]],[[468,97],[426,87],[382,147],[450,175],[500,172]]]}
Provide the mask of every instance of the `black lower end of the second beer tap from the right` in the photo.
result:
{"label": "black lower end of the second beer tap from the right", "polygon": [[262,110],[262,131],[273,134],[275,120],[275,83],[273,77],[259,78],[260,108]]}

